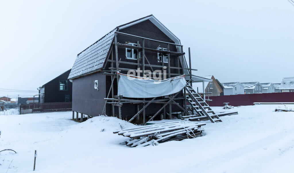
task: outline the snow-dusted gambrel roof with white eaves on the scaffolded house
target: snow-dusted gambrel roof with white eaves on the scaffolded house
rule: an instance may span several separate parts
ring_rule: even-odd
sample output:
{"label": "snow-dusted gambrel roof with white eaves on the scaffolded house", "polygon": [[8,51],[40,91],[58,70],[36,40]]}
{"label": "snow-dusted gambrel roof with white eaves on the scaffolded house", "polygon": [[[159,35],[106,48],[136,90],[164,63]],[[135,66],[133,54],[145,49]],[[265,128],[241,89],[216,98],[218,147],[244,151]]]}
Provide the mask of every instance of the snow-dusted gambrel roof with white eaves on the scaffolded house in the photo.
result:
{"label": "snow-dusted gambrel roof with white eaves on the scaffolded house", "polygon": [[[176,44],[181,44],[180,40],[151,14],[141,19],[117,26],[98,41],[93,43],[91,46],[86,48],[84,51],[79,53],[76,57],[76,61],[74,62],[71,72],[69,73],[68,79],[74,79],[82,75],[100,71],[103,68],[103,65],[106,63],[106,59],[111,52],[111,44],[113,43],[115,32],[145,20],[150,20]],[[185,66],[187,67],[186,63]]]}

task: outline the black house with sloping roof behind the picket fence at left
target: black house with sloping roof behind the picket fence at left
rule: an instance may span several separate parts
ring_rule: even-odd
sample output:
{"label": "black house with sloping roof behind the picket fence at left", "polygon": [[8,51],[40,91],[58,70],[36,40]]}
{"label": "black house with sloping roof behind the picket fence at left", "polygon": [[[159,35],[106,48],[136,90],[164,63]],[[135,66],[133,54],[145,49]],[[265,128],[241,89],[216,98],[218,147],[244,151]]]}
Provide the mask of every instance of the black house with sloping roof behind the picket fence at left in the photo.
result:
{"label": "black house with sloping roof behind the picket fence at left", "polygon": [[70,71],[71,69],[67,70],[39,87],[39,103],[71,102],[72,83],[67,79]]}

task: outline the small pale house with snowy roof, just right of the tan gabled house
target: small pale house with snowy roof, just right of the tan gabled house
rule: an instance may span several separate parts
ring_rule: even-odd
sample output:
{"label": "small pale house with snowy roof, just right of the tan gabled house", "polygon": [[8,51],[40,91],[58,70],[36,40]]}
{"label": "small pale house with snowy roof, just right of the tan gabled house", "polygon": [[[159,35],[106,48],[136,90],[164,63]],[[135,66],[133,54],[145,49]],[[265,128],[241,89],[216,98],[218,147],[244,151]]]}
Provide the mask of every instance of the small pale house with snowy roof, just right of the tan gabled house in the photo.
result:
{"label": "small pale house with snowy roof, just right of the tan gabled house", "polygon": [[237,94],[245,94],[245,86],[240,82],[230,82],[230,83],[222,83],[223,85],[223,95],[237,95]]}

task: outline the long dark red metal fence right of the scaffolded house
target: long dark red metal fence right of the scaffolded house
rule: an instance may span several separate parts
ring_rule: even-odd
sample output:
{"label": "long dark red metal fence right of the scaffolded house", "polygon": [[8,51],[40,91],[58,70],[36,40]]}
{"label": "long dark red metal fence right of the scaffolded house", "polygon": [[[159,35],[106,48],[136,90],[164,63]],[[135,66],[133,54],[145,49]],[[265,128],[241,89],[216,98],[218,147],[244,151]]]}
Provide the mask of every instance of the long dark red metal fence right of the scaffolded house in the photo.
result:
{"label": "long dark red metal fence right of the scaffolded house", "polygon": [[254,102],[294,102],[294,92],[292,93],[260,93],[260,94],[239,94],[210,96],[210,106],[223,106],[229,103],[231,106],[253,105]]}

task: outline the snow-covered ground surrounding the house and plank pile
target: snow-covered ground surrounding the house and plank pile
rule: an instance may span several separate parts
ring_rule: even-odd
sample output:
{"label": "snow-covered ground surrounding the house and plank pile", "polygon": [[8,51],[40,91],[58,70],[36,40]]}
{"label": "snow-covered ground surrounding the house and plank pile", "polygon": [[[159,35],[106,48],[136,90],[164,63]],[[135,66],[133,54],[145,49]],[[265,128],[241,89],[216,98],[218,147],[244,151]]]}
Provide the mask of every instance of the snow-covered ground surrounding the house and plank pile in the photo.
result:
{"label": "snow-covered ground surrounding the house and plank pile", "polygon": [[[126,147],[113,134],[134,126],[113,117],[74,122],[71,112],[0,115],[0,172],[293,172],[294,112],[283,105],[225,110],[205,135],[158,146]],[[289,105],[293,108],[294,105]],[[221,107],[213,107],[216,112]],[[17,111],[16,111],[17,112]]]}

